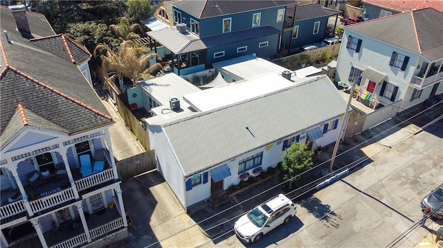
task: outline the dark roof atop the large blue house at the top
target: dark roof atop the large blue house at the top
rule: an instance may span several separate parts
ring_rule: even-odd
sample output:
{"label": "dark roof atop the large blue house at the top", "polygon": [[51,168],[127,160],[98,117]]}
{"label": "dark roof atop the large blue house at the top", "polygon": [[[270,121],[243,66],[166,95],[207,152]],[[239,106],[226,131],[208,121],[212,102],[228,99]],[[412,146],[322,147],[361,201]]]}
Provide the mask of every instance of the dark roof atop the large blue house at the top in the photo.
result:
{"label": "dark roof atop the large blue house at the top", "polygon": [[182,0],[173,5],[198,19],[232,15],[278,6],[295,5],[293,0]]}

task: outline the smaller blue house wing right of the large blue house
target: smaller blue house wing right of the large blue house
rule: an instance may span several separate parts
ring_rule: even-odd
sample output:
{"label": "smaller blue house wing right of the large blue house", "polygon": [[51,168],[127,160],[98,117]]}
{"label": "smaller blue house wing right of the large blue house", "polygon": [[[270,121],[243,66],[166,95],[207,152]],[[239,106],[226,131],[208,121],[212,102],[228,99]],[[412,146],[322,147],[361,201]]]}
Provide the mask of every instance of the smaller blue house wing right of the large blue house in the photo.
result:
{"label": "smaller blue house wing right of the large blue house", "polygon": [[302,46],[315,44],[329,37],[327,20],[338,14],[340,11],[322,7],[318,3],[297,6],[295,24],[288,27],[291,32],[284,32],[284,55],[296,53]]}

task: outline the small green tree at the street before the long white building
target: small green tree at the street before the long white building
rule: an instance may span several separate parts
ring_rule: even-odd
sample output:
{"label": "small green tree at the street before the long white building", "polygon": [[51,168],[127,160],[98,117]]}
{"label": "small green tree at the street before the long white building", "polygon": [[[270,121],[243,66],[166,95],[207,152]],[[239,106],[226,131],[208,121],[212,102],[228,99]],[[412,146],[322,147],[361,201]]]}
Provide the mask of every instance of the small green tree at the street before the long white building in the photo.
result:
{"label": "small green tree at the street before the long white building", "polygon": [[293,142],[291,147],[283,153],[282,173],[283,179],[289,180],[289,189],[292,182],[300,179],[300,173],[307,171],[312,166],[312,154],[314,151],[307,151],[307,146],[298,142]]}

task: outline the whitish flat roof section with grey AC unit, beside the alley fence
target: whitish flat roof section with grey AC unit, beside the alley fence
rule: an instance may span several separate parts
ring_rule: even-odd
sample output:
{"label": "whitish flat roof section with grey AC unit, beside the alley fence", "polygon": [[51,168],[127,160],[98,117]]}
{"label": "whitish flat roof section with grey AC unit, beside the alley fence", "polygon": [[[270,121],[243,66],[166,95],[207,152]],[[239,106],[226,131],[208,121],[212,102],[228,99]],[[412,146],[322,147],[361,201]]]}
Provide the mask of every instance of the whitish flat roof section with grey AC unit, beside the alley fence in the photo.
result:
{"label": "whitish flat roof section with grey AC unit, beside the alley fence", "polygon": [[[183,115],[183,113],[192,113],[189,109],[190,105],[183,100],[183,95],[201,91],[197,86],[174,73],[168,73],[161,77],[154,77],[137,82],[137,86],[160,105],[156,108],[151,108],[151,111],[161,117],[162,120]],[[179,99],[180,111],[172,111],[169,109],[169,101],[172,98]],[[156,118],[157,116],[151,118]]]}

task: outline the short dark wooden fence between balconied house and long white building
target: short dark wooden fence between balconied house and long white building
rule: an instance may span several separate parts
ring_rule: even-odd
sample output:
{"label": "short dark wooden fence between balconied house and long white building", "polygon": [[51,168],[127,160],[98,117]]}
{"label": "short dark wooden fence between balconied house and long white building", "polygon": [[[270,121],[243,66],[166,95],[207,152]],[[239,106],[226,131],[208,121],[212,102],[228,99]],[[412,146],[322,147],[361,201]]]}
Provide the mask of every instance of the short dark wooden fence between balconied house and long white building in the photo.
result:
{"label": "short dark wooden fence between balconied house and long white building", "polygon": [[124,160],[116,161],[118,175],[122,180],[156,169],[155,151],[146,151]]}

